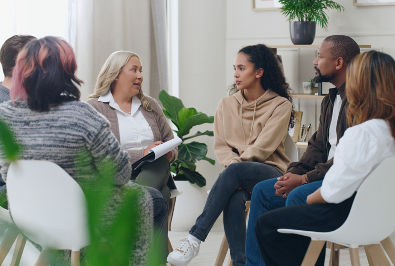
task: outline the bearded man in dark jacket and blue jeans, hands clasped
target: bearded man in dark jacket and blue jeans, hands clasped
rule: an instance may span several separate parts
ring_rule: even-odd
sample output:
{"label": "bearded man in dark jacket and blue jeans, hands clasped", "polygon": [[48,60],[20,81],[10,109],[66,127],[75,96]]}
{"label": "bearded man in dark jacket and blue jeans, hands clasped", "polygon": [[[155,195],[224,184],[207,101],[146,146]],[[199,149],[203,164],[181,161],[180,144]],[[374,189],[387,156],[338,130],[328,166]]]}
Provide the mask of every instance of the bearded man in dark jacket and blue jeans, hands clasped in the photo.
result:
{"label": "bearded man in dark jacket and blue jeans, hands clasped", "polygon": [[359,53],[357,43],[343,35],[325,38],[318,48],[318,56],[313,62],[314,81],[330,82],[335,87],[322,100],[318,130],[309,140],[300,161],[291,163],[283,176],[262,181],[253,189],[246,266],[263,265],[254,230],[257,218],[280,207],[306,203],[307,196],[321,186],[325,173],[332,166],[336,145],[348,127],[344,90],[346,69],[349,61]]}

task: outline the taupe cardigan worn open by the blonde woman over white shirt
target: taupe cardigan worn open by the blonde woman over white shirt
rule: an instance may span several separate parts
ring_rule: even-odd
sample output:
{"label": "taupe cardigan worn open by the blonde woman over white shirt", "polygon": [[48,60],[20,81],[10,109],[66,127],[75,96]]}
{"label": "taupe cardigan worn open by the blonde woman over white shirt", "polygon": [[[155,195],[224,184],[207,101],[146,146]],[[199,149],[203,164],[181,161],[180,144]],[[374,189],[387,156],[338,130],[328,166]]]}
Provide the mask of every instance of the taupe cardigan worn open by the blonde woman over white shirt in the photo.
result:
{"label": "taupe cardigan worn open by the blonde woman over white shirt", "polygon": [[[163,114],[162,108],[159,106],[158,102],[149,96],[145,96],[145,97],[149,100],[149,104],[152,106],[152,108],[155,109],[159,114],[158,115],[155,112],[148,112],[143,108],[142,105],[140,105],[139,109],[152,129],[153,141],[166,142],[171,139],[174,139],[173,131],[171,130],[170,125],[166,120],[165,114]],[[119,124],[118,124],[118,117],[116,110],[113,107],[109,106],[108,102],[99,102],[98,99],[99,99],[98,97],[91,98],[86,102],[90,103],[100,114],[104,115],[108,119],[108,121],[111,123],[110,126],[111,131],[114,133],[118,142],[120,142]],[[171,158],[170,163],[174,162],[175,159],[177,159],[178,147],[175,147],[172,151],[173,151],[173,157]],[[127,152],[130,155],[130,164],[133,164],[136,161],[143,158],[144,149],[127,150]],[[174,180],[171,178],[171,176],[169,178],[169,181],[167,182],[167,186],[172,189],[176,188],[174,184]],[[174,212],[174,204],[175,204],[175,197],[170,198],[169,217],[168,217],[169,231],[171,227],[171,219]]]}

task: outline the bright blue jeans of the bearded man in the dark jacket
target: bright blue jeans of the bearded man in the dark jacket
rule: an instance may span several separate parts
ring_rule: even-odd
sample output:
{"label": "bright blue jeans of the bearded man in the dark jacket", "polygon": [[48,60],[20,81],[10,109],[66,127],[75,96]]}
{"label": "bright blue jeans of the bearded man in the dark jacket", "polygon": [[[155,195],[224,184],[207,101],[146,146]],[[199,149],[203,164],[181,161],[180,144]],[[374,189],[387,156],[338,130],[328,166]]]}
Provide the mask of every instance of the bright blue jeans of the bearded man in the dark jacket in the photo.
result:
{"label": "bright blue jeans of the bearded man in the dark jacket", "polygon": [[258,217],[268,211],[281,207],[305,204],[307,196],[322,185],[322,181],[308,183],[295,188],[287,198],[283,198],[281,196],[276,196],[276,190],[274,189],[274,184],[276,184],[276,182],[277,178],[262,181],[256,184],[252,190],[246,239],[246,266],[265,265],[255,235],[255,224]]}

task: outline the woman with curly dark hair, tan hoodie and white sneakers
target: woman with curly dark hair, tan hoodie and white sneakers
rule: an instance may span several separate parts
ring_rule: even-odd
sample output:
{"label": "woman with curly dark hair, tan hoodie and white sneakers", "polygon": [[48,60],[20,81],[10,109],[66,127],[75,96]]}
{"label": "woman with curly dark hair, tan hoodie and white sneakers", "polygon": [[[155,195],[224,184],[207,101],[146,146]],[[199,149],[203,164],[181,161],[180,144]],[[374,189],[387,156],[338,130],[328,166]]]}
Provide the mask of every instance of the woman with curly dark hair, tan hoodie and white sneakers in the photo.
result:
{"label": "woman with curly dark hair, tan hoodie and white sneakers", "polygon": [[246,201],[260,181],[281,176],[290,160],[284,140],[293,121],[292,98],[277,58],[265,45],[241,49],[233,64],[230,96],[218,104],[214,151],[224,167],[195,225],[167,261],[187,265],[224,212],[224,229],[233,265],[244,265]]}

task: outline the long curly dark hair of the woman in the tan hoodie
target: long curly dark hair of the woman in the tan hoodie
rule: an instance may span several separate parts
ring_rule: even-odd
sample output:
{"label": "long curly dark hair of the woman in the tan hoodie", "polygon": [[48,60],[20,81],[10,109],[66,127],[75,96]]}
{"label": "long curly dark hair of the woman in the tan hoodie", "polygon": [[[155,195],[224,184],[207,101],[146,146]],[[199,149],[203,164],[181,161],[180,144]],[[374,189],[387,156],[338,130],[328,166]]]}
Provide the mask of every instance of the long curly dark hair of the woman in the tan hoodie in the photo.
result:
{"label": "long curly dark hair of the woman in the tan hoodie", "polygon": [[[238,51],[248,57],[250,63],[254,65],[254,70],[263,69],[264,74],[260,78],[260,84],[265,90],[270,90],[289,100],[292,103],[292,112],[289,127],[294,127],[294,102],[292,100],[292,90],[284,77],[279,61],[274,53],[266,45],[246,46]],[[238,92],[237,85],[233,83],[229,86],[229,95]]]}

